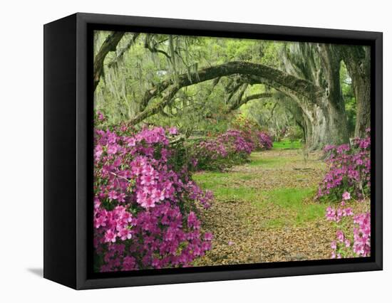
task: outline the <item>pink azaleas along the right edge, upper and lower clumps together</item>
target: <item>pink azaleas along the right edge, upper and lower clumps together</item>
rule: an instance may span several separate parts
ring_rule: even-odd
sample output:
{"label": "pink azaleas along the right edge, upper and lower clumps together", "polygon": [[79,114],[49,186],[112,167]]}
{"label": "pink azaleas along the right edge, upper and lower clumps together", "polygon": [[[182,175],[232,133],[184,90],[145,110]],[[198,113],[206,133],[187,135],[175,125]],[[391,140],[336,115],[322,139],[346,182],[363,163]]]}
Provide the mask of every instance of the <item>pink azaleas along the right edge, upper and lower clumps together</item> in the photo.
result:
{"label": "pink azaleas along the right edge, upper and lower clumps together", "polygon": [[329,171],[319,187],[318,197],[341,197],[338,207],[326,208],[326,220],[334,223],[336,239],[331,243],[331,257],[369,257],[371,254],[371,220],[370,212],[354,213],[345,207],[346,201],[354,199],[355,203],[368,203],[371,186],[370,129],[363,139],[354,139],[353,144],[328,146],[326,161]]}

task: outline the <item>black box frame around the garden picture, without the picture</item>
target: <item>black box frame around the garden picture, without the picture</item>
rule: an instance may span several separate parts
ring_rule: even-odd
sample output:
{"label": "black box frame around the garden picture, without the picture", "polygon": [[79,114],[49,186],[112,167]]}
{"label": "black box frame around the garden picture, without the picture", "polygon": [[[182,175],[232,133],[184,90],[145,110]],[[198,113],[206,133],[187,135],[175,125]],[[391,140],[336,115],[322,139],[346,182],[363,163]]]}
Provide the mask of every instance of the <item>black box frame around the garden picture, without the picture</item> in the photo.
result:
{"label": "black box frame around the garden picture, without the picture", "polygon": [[[43,276],[74,289],[382,270],[383,35],[78,13],[44,26]],[[93,30],[177,33],[371,46],[371,257],[92,272]]]}

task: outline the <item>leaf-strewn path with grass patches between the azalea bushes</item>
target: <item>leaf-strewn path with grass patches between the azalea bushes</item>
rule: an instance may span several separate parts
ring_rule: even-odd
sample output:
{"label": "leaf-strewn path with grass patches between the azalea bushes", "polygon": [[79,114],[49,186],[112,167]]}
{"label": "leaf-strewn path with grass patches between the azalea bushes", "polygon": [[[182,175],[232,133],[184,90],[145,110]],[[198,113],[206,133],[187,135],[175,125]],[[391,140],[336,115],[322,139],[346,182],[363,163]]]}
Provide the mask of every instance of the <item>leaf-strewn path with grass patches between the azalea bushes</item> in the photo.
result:
{"label": "leaf-strewn path with grass patches between the azalea bushes", "polygon": [[212,250],[195,266],[329,259],[335,230],[328,204],[314,201],[325,169],[320,152],[277,143],[229,171],[195,174],[215,194],[200,213]]}

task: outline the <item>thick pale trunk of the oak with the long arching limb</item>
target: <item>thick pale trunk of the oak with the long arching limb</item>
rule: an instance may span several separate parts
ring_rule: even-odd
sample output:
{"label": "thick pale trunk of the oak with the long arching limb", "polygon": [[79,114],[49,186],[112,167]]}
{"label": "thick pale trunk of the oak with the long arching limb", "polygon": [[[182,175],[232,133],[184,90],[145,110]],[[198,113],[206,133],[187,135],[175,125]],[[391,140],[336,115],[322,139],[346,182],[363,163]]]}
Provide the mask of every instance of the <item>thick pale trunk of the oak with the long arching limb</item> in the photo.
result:
{"label": "thick pale trunk of the oak with the long arching limb", "polygon": [[340,55],[331,44],[295,44],[287,48],[285,69],[318,85],[324,94],[318,102],[304,102],[291,95],[304,112],[306,145],[320,149],[326,144],[349,142],[346,110],[340,87]]}

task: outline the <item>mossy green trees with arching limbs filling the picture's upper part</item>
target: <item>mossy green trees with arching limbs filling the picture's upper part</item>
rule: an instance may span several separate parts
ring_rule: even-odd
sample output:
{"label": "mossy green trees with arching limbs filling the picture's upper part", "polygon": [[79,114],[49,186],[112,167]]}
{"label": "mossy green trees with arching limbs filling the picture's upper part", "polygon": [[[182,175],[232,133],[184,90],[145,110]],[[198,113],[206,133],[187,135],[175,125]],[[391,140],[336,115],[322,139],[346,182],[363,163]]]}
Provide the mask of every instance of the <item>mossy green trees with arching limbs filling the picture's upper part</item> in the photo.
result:
{"label": "mossy green trees with arching limbs filling the picture's upper part", "polygon": [[235,115],[310,149],[370,126],[368,47],[97,31],[95,107],[111,123],[224,129]]}

